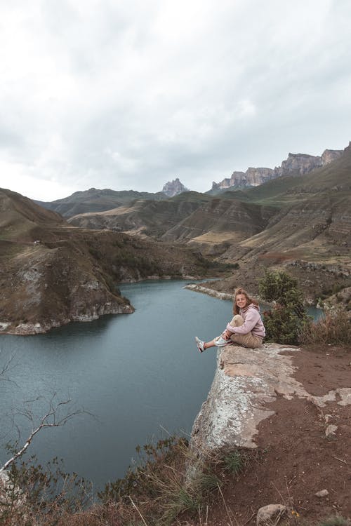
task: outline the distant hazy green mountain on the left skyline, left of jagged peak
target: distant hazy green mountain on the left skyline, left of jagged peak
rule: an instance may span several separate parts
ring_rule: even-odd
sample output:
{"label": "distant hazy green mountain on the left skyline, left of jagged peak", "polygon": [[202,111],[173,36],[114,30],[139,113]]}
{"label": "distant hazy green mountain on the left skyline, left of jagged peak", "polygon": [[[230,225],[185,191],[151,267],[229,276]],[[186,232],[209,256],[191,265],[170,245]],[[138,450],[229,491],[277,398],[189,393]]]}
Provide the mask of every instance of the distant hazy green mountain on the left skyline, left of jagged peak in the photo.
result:
{"label": "distant hazy green mountain on the left skyline, left of jagged peak", "polygon": [[72,217],[73,215],[84,214],[86,212],[110,210],[131,203],[135,199],[152,199],[153,201],[157,201],[165,198],[166,196],[162,192],[151,194],[146,191],[115,191],[106,188],[103,190],[91,188],[85,191],[76,191],[71,196],[57,199],[56,201],[34,202],[48,210],[58,212],[63,217]]}

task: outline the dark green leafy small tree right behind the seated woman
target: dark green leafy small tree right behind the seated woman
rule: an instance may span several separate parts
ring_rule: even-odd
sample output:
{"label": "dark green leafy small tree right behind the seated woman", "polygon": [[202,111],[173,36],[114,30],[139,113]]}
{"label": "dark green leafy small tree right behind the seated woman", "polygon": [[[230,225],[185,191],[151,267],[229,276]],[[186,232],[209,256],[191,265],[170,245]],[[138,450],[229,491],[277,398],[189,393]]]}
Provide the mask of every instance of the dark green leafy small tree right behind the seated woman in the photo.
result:
{"label": "dark green leafy small tree right behind the seated woman", "polygon": [[272,310],[263,313],[267,340],[298,344],[308,316],[297,280],[284,271],[267,271],[259,281],[258,290],[266,302],[274,304]]}

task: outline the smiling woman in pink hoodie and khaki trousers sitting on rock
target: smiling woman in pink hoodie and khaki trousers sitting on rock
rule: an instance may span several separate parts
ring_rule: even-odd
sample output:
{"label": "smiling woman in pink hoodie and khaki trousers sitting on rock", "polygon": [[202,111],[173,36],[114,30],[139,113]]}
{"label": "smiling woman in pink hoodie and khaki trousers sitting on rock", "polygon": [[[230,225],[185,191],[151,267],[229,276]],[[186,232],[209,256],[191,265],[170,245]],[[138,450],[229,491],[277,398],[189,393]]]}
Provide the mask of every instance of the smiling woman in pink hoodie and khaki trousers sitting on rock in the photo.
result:
{"label": "smiling woman in pink hoodie and khaki trousers sitting on rock", "polygon": [[262,345],[265,337],[265,326],[260,316],[260,307],[255,299],[249,297],[246,290],[237,288],[234,292],[234,318],[227,324],[227,328],[220,336],[211,342],[203,342],[197,336],[197,349],[202,353],[208,347],[223,347],[225,345],[238,344],[250,349],[256,349]]}

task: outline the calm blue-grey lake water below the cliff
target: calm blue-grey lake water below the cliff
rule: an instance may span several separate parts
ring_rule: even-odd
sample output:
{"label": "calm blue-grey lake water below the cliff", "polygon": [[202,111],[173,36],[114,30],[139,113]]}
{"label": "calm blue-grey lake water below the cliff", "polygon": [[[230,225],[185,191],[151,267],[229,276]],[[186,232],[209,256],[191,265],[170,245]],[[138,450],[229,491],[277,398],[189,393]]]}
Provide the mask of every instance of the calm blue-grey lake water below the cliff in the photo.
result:
{"label": "calm blue-grey lake water below the cliff", "polygon": [[[41,462],[63,458],[67,471],[98,489],[124,475],[136,445],[190,433],[216,367],[216,349],[199,354],[194,335],[217,335],[232,306],[186,290],[185,284],[124,285],[133,314],[72,323],[46,335],[2,335],[0,361],[13,356],[13,368],[7,373],[12,382],[0,382],[1,445],[17,436],[13,414],[20,442],[27,438],[32,423],[18,409],[28,407],[37,423],[54,393],[54,400],[71,399],[69,410],[84,407],[91,414],[44,429],[30,452]],[[0,461],[7,458],[1,449]]]}

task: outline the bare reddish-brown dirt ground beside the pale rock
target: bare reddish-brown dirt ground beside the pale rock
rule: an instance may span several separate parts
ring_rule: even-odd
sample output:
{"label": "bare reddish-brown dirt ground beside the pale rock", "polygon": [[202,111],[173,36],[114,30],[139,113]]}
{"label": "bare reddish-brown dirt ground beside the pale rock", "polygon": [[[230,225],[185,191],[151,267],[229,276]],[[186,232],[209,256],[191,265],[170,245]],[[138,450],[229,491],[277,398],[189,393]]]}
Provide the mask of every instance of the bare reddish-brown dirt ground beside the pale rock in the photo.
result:
{"label": "bare reddish-brown dirt ground beside the pale rock", "polygon": [[[314,396],[351,387],[351,349],[324,346],[289,353],[298,367],[295,377]],[[340,515],[351,518],[351,405],[279,396],[275,414],[260,422],[257,450],[246,455],[244,471],[223,485],[207,518],[183,522],[203,526],[251,526],[260,506],[285,504],[286,523],[317,525]],[[329,424],[335,436],[326,438]],[[326,497],[316,493],[327,490]]]}

